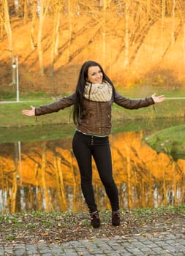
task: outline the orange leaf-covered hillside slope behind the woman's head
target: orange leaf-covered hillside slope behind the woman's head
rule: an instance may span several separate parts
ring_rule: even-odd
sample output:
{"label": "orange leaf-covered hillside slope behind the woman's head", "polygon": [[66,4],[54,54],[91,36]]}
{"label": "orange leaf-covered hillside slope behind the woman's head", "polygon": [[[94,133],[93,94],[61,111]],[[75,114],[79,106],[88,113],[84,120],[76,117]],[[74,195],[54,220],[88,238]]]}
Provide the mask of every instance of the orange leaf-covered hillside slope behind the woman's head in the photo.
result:
{"label": "orange leaf-covered hillside slope behind the woman's head", "polygon": [[[20,91],[45,91],[50,94],[72,92],[78,80],[81,64],[93,59],[102,64],[116,86],[133,83],[151,83],[177,88],[185,83],[185,30],[178,20],[175,23],[175,42],[171,41],[170,18],[161,22],[144,23],[143,31],[135,30],[129,37],[129,65],[125,63],[124,21],[111,18],[102,30],[98,20],[80,17],[72,20],[69,40],[69,20],[61,19],[58,38],[58,54],[55,57],[53,77],[50,77],[50,52],[53,21],[42,32],[42,50],[45,75],[39,75],[37,43],[31,49],[31,22],[12,22],[12,40],[15,56],[19,60]],[[36,27],[37,28],[37,27]],[[37,29],[35,29],[37,42]],[[12,62],[7,48],[7,36],[0,41],[0,84],[10,89]]]}

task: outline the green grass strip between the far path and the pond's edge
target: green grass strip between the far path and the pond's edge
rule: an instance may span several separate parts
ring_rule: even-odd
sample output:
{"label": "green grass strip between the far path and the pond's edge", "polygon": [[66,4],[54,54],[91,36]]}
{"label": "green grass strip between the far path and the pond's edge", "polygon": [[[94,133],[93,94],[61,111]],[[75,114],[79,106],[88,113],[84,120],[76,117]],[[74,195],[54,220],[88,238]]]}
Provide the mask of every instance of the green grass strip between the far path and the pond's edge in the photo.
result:
{"label": "green grass strip between the far path and the pond's edge", "polygon": [[[45,116],[27,117],[23,116],[21,110],[29,109],[30,105],[39,106],[53,102],[52,99],[34,99],[24,102],[10,102],[0,104],[0,127],[28,127],[44,124],[67,124],[72,123],[72,108],[61,110]],[[140,119],[140,118],[183,118],[185,116],[185,99],[166,99],[161,104],[140,108],[138,110],[127,110],[113,105],[113,121],[118,119]]]}

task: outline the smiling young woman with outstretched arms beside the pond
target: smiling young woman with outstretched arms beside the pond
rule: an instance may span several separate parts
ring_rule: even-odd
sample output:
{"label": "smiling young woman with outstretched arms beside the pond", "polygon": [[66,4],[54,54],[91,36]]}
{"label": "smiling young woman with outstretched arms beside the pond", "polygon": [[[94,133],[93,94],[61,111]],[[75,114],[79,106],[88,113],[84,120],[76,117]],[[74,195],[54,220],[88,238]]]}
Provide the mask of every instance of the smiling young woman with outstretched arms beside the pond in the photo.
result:
{"label": "smiling young woman with outstretched arms beside the pond", "polygon": [[111,107],[113,102],[123,108],[144,108],[162,102],[165,98],[153,94],[146,99],[127,99],[118,94],[110,78],[95,61],[86,61],[80,69],[76,90],[58,102],[31,106],[31,110],[22,110],[23,115],[39,116],[58,112],[71,105],[76,131],[72,148],[78,162],[81,189],[88,206],[91,225],[99,227],[99,213],[94,200],[92,185],[92,157],[112,208],[112,224],[120,225],[118,189],[113,179],[112,160],[108,135],[111,130]]}

